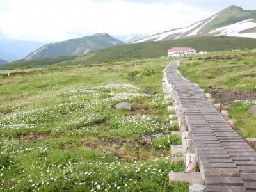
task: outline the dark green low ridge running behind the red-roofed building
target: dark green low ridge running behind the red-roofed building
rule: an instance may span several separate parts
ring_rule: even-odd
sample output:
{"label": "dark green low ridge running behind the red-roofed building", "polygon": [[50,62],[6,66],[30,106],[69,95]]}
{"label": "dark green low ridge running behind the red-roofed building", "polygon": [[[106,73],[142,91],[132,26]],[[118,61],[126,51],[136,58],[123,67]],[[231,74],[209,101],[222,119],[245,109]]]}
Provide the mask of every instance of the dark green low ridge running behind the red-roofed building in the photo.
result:
{"label": "dark green low ridge running behind the red-roofed building", "polygon": [[224,51],[232,49],[246,49],[256,47],[256,39],[236,38],[227,36],[200,37],[163,42],[143,42],[140,44],[126,44],[116,47],[90,52],[83,56],[42,58],[37,60],[22,60],[1,65],[0,70],[20,67],[43,67],[47,65],[87,65],[122,60],[143,58],[159,58],[166,56],[170,47],[194,47],[196,50]]}

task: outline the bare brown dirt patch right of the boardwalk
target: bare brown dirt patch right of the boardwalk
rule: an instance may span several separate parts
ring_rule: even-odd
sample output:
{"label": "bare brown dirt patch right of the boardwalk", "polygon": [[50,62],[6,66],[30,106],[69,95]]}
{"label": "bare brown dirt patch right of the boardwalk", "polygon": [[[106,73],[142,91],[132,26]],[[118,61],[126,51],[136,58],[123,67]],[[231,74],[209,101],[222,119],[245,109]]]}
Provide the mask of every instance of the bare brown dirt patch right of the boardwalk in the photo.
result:
{"label": "bare brown dirt patch right of the boardwalk", "polygon": [[222,103],[234,102],[235,100],[256,100],[256,92],[243,90],[213,90],[212,96]]}

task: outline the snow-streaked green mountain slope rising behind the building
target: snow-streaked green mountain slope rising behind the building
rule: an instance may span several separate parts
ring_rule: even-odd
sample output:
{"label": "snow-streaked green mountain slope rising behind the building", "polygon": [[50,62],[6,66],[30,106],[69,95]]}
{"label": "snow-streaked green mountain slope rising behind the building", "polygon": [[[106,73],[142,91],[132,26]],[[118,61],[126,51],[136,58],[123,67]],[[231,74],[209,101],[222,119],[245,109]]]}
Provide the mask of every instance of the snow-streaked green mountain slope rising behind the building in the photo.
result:
{"label": "snow-streaked green mountain slope rising behind the building", "polygon": [[186,28],[157,33],[134,43],[161,41],[195,36],[238,36],[256,38],[256,11],[229,6],[225,10]]}

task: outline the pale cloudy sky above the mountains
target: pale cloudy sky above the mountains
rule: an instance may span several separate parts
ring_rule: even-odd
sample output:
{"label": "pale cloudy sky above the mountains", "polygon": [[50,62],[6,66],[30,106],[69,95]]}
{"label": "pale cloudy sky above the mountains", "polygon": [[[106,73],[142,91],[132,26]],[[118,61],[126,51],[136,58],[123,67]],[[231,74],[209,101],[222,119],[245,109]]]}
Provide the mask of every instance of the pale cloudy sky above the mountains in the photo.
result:
{"label": "pale cloudy sky above the mountains", "polygon": [[0,37],[57,42],[104,32],[150,34],[183,28],[255,0],[0,0]]}

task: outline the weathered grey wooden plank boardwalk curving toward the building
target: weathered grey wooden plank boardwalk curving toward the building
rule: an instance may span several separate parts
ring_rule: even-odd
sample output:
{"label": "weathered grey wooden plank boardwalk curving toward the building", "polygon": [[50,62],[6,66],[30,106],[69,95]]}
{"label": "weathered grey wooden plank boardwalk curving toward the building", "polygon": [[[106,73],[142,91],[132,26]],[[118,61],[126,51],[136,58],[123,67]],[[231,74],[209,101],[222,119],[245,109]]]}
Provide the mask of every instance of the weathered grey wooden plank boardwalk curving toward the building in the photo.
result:
{"label": "weathered grey wooden plank boardwalk curving toward the building", "polygon": [[206,191],[256,191],[256,152],[227,123],[198,86],[166,67],[167,86],[175,94],[191,133]]}

